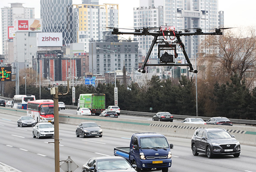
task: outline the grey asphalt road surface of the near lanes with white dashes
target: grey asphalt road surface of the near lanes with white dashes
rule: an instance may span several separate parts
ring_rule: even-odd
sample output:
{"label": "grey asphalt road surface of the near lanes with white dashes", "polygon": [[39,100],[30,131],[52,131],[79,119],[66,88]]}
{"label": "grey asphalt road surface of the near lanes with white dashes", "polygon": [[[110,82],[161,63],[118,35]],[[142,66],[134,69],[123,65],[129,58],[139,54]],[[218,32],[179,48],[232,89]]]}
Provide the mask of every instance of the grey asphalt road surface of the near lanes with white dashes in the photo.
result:
{"label": "grey asphalt road surface of the near lanes with white dashes", "polygon": [[[54,139],[32,138],[32,127],[17,127],[17,119],[17,116],[0,113],[0,162],[21,172],[53,172],[54,145],[48,142]],[[60,159],[70,156],[79,166],[75,172],[81,172],[89,158],[112,156],[114,147],[128,147],[133,134],[102,128],[102,138],[76,138],[76,125],[59,126]],[[174,144],[169,172],[256,172],[256,147],[241,145],[239,158],[229,155],[208,159],[206,155],[192,155],[190,139],[167,139]]]}

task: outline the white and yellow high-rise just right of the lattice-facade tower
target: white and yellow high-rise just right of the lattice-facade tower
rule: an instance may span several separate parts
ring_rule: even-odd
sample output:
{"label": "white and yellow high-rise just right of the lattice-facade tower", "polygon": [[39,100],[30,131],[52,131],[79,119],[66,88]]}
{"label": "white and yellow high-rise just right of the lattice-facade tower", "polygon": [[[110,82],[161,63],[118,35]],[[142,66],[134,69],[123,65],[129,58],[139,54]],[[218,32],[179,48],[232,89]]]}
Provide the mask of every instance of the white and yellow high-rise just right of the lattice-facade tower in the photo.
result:
{"label": "white and yellow high-rise just right of the lattice-facade tower", "polygon": [[103,39],[106,27],[118,27],[118,4],[99,5],[97,0],[84,0],[89,4],[73,4],[74,42],[84,43],[89,52],[89,42]]}

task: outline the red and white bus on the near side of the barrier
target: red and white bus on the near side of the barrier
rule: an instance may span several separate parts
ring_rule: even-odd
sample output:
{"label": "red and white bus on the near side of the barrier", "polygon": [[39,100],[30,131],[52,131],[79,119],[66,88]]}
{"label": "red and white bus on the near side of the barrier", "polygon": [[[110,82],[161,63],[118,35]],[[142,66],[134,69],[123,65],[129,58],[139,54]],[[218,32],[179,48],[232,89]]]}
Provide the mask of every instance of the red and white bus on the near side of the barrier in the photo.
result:
{"label": "red and white bus on the near side of the barrier", "polygon": [[29,101],[27,106],[27,116],[31,116],[36,122],[54,123],[53,100],[42,99]]}

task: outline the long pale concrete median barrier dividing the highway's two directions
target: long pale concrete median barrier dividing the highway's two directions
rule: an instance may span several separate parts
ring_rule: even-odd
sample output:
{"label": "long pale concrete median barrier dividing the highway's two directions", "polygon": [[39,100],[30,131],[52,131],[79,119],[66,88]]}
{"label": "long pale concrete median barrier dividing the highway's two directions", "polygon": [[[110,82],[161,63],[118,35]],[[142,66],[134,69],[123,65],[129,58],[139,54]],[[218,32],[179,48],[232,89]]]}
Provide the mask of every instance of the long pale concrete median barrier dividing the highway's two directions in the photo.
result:
{"label": "long pale concrete median barrier dividing the highway's two directions", "polygon": [[[1,113],[15,116],[25,116],[26,110],[17,110],[9,107],[0,107]],[[170,137],[192,138],[195,130],[198,128],[220,127],[227,130],[231,135],[245,145],[256,146],[256,127],[239,126],[216,126],[206,124],[184,124],[177,122],[144,121],[124,118],[106,118],[99,116],[77,116],[68,114],[59,114],[59,122],[65,124],[77,125],[84,121],[94,121],[104,129],[121,130],[134,133],[155,132]]]}

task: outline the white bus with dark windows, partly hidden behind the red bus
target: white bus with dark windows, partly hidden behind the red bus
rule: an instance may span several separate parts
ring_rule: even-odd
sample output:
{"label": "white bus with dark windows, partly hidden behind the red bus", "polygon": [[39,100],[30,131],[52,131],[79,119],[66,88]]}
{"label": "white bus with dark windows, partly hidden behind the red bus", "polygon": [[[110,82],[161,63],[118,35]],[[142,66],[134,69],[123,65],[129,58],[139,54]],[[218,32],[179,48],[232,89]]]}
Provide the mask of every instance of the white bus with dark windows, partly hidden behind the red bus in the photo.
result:
{"label": "white bus with dark windows, partly hidden behind the red bus", "polygon": [[13,108],[27,109],[28,101],[35,100],[34,95],[15,95],[13,97]]}

